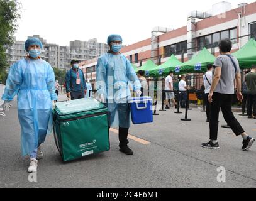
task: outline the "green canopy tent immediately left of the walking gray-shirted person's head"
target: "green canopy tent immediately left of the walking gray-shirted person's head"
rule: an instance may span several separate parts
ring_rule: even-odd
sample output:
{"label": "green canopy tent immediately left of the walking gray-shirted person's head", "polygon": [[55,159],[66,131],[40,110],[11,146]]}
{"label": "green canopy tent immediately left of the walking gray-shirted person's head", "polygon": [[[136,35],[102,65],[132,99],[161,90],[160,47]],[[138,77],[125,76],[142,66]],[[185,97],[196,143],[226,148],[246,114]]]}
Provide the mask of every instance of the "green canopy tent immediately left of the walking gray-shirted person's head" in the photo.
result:
{"label": "green canopy tent immediately left of the walking gray-shirted person's head", "polygon": [[215,57],[206,49],[198,53],[191,60],[182,63],[175,68],[176,74],[186,74],[186,73],[202,73],[206,72],[206,67],[209,63],[213,64]]}

